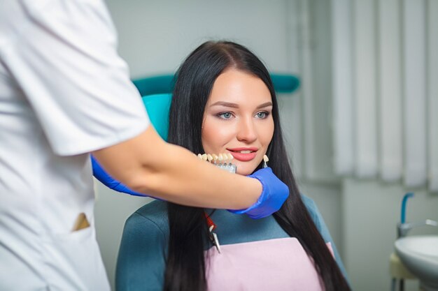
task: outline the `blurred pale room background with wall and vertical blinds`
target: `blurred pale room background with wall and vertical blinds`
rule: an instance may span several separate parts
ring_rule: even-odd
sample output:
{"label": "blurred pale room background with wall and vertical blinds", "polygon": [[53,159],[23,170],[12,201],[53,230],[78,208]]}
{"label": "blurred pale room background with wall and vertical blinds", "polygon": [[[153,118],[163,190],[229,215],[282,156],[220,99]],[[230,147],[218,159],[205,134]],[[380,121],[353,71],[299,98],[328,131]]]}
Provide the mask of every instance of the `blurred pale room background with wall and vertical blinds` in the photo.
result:
{"label": "blurred pale room background with wall and vertical blinds", "polygon": [[[390,290],[404,193],[415,193],[407,221],[438,220],[438,1],[106,3],[133,79],[174,73],[198,45],[223,39],[246,45],[271,73],[299,77],[297,91],[279,95],[299,187],[318,204],[353,290]],[[150,199],[95,186],[114,285],[125,220]]]}

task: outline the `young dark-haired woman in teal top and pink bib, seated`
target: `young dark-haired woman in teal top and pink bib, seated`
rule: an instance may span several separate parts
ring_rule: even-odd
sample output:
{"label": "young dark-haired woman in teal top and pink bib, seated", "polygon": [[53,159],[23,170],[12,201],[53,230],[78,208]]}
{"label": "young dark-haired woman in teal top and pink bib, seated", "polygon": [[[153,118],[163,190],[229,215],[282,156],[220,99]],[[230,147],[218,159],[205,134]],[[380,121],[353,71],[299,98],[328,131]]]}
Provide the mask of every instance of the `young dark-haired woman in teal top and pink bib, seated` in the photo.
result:
{"label": "young dark-haired woman in teal top and pink bib, seated", "polygon": [[168,141],[195,154],[232,154],[242,175],[260,169],[266,154],[290,195],[259,220],[162,201],[141,207],[125,225],[118,290],[349,290],[323,218],[298,191],[262,62],[236,43],[207,42],[177,76]]}

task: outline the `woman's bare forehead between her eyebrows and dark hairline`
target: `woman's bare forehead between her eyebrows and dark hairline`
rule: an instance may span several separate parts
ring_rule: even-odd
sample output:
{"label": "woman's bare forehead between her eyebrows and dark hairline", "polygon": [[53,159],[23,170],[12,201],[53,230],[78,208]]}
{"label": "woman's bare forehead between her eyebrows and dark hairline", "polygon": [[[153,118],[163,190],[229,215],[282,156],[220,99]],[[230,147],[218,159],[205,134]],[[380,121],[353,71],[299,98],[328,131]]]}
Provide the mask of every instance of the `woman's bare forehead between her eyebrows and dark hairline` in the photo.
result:
{"label": "woman's bare forehead between her eyebrows and dark hairline", "polygon": [[207,104],[225,101],[258,105],[271,99],[271,93],[262,79],[242,70],[230,68],[216,78]]}

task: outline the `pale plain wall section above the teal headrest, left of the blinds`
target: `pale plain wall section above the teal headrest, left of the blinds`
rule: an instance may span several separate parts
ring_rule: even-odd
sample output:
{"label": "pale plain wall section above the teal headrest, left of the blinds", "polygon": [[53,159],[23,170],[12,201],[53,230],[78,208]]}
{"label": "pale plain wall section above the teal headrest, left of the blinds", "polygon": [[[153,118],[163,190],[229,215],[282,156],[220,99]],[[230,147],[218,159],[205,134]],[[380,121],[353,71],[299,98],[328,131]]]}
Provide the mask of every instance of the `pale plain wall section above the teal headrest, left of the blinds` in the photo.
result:
{"label": "pale plain wall section above the teal headrest, left of the blinds", "polygon": [[134,77],[174,72],[195,47],[220,38],[248,45],[270,68],[288,70],[284,0],[106,2]]}

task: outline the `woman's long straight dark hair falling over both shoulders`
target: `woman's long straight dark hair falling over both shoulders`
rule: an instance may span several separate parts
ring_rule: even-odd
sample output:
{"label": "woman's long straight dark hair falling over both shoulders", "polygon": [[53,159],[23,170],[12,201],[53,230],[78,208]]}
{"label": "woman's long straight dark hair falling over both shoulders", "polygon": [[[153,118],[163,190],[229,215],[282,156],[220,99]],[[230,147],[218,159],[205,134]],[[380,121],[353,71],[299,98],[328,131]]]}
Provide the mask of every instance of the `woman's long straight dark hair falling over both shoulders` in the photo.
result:
{"label": "woman's long straight dark hair falling over both shoulders", "polygon": [[[302,202],[288,163],[281,133],[278,104],[267,68],[242,45],[220,41],[206,42],[188,56],[176,73],[174,97],[169,115],[169,142],[194,153],[203,153],[202,120],[204,108],[216,78],[227,68],[236,68],[259,77],[272,97],[274,136],[267,150],[269,166],[290,190],[288,200],[274,214],[290,237],[296,237],[313,258],[326,291],[349,290],[344,276],[325,245],[306,206]],[[257,167],[260,168],[260,165]],[[204,245],[207,239],[204,209],[168,203],[169,248],[165,291],[207,290]]]}

